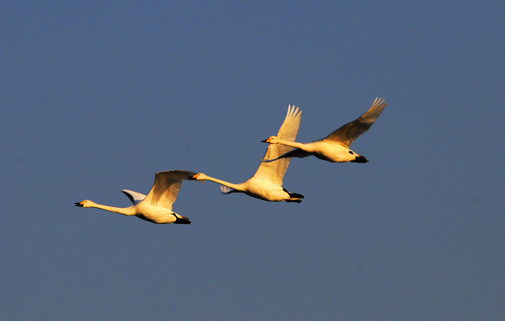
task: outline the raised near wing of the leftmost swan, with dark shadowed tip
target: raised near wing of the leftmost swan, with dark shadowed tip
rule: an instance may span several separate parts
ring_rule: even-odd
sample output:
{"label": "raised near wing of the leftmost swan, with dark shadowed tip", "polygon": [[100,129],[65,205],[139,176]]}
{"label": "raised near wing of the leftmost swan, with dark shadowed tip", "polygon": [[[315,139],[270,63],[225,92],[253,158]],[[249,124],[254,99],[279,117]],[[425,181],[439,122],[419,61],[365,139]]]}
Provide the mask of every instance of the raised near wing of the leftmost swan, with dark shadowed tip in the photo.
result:
{"label": "raised near wing of the leftmost swan, with dark shadowed tip", "polygon": [[158,172],[155,176],[153,187],[144,199],[144,202],[153,206],[172,209],[172,204],[177,198],[183,180],[196,173],[188,171],[165,171]]}

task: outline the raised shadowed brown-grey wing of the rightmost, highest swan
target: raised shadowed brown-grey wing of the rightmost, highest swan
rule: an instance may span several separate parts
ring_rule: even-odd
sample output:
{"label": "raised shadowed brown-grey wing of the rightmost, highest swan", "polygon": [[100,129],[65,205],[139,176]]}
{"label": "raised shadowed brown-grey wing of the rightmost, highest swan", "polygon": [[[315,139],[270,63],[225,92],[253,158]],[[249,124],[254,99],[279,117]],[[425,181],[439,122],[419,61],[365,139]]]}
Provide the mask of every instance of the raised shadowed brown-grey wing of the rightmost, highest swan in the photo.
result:
{"label": "raised shadowed brown-grey wing of the rightmost, highest swan", "polygon": [[384,102],[384,99],[375,98],[374,103],[365,114],[361,115],[357,120],[343,125],[322,140],[336,142],[349,148],[350,144],[358,136],[366,132],[374,124],[377,117],[384,111],[386,104],[387,102]]}

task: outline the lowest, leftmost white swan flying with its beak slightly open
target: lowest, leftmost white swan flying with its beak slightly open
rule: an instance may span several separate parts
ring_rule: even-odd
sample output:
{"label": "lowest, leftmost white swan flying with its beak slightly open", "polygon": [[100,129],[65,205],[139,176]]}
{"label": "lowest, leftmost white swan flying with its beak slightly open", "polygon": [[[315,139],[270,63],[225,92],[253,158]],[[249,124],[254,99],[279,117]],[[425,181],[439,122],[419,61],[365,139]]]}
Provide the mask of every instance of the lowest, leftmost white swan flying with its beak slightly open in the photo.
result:
{"label": "lowest, leftmost white swan flying with its beak slightly open", "polygon": [[158,172],[155,175],[153,187],[147,195],[127,189],[122,190],[133,203],[130,207],[100,205],[88,199],[75,203],[75,206],[96,207],[123,215],[134,215],[156,224],[191,224],[188,218],[172,211],[172,204],[177,198],[182,181],[194,174],[179,170]]}

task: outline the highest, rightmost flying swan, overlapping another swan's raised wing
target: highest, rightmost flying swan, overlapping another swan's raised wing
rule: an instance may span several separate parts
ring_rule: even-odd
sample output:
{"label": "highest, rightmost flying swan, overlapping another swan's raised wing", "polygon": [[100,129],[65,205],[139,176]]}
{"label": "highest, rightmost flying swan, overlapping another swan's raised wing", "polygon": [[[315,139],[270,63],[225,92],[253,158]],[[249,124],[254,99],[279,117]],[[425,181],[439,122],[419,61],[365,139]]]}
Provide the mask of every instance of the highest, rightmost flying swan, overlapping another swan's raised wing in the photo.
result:
{"label": "highest, rightmost flying swan, overlapping another swan's raised wing", "polygon": [[282,137],[270,136],[262,140],[264,143],[270,144],[283,144],[286,146],[294,147],[295,149],[288,151],[278,157],[267,158],[263,157],[262,162],[268,163],[277,161],[288,157],[307,157],[314,155],[325,161],[337,162],[354,162],[354,163],[367,163],[368,160],[363,155],[358,155],[349,149],[350,144],[355,141],[358,136],[366,132],[375,122],[377,117],[384,111],[387,102],[382,98],[375,98],[374,103],[370,109],[357,120],[347,123],[329,134],[323,139],[315,140],[310,143],[298,143],[295,141],[288,141]]}

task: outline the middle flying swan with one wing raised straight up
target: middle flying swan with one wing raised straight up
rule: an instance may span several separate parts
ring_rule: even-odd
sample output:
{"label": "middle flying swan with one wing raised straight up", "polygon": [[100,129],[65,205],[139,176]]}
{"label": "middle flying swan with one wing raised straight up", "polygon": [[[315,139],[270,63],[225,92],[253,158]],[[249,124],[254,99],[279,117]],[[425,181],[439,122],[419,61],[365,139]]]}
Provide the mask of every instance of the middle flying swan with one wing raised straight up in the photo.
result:
{"label": "middle flying swan with one wing raised straight up", "polygon": [[[300,126],[300,116],[301,111],[298,112],[298,108],[294,109],[294,105],[292,108],[291,105],[289,105],[286,118],[279,128],[277,136],[285,139],[286,141],[294,140],[296,138],[296,133],[298,132],[298,127]],[[285,145],[268,145],[264,158],[278,157],[290,149],[292,148]],[[289,193],[285,188],[282,188],[282,178],[286,173],[290,160],[290,158],[282,158],[279,159],[279,161],[272,163],[260,163],[256,173],[245,182],[239,184],[228,183],[226,181],[207,176],[204,173],[195,174],[188,177],[188,179],[207,180],[224,185],[221,186],[221,192],[223,194],[240,192],[266,201],[299,203],[301,202],[300,198],[304,198],[303,195]]]}

